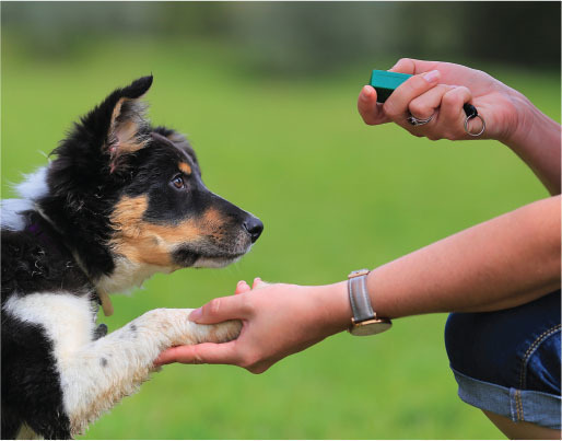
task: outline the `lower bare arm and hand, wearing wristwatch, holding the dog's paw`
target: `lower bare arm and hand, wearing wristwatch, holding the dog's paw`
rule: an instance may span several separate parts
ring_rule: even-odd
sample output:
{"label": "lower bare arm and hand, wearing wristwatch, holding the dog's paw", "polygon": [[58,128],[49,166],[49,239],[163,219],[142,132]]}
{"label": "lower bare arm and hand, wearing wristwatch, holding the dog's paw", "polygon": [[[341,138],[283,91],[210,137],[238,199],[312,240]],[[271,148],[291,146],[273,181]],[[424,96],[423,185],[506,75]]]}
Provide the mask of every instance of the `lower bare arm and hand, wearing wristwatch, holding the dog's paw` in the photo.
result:
{"label": "lower bare arm and hand, wearing wristwatch, holding the dog's paw", "polygon": [[[368,292],[380,316],[516,306],[560,288],[560,196],[494,218],[374,269]],[[261,287],[261,288],[260,288]],[[278,360],[344,330],[347,282],[261,285],[214,299],[197,323],[243,321],[238,339],[172,348],[160,363],[226,363],[259,373]]]}

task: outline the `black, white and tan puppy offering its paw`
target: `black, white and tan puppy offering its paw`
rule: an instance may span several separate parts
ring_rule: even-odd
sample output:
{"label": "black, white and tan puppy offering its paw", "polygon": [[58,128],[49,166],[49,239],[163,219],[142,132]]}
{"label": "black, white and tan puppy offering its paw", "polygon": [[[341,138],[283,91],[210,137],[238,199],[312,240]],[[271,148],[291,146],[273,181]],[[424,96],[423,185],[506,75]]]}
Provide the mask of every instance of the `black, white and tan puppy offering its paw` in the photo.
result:
{"label": "black, white and tan puppy offering its paw", "polygon": [[237,321],[149,311],[107,334],[108,293],[155,272],[223,267],[264,224],[211,193],[179,132],[153,127],[152,76],[83,116],[49,164],[2,201],[2,439],[69,439],[136,393],[172,346],[236,338]]}

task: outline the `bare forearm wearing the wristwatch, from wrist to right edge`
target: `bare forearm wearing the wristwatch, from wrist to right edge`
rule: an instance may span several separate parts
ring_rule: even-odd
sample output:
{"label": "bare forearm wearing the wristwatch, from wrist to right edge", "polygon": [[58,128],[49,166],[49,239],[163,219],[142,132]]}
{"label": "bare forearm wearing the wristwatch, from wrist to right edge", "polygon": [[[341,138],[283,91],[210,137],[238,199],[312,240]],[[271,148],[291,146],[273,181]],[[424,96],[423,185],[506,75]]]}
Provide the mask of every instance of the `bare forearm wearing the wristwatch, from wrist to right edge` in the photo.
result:
{"label": "bare forearm wearing the wristwatch, from wrist to right edge", "polygon": [[[342,329],[351,309],[346,282],[319,287],[321,318]],[[375,311],[391,318],[516,306],[560,288],[560,197],[464,230],[374,269]]]}

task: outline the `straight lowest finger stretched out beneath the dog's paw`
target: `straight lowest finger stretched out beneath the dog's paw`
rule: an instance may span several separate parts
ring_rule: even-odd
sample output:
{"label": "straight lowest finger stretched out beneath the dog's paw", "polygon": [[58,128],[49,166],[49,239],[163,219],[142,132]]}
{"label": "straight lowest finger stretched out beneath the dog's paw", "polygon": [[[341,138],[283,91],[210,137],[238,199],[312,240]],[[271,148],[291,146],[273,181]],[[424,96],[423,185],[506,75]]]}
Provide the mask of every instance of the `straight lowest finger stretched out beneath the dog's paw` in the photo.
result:
{"label": "straight lowest finger stretched out beneath the dog's paw", "polygon": [[154,361],[154,364],[186,363],[186,364],[236,364],[234,341],[215,344],[202,343],[191,346],[176,346],[166,349]]}

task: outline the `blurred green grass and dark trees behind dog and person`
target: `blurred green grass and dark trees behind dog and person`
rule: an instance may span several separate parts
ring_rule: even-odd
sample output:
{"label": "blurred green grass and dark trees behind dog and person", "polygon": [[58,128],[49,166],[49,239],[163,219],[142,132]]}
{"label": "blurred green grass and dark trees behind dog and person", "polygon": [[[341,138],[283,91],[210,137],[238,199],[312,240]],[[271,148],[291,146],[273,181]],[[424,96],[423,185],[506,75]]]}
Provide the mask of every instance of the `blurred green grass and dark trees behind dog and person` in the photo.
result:
{"label": "blurred green grass and dark trees behind dog and person", "polygon": [[[3,198],[73,120],[152,72],[152,120],[187,134],[207,185],[266,225],[234,266],[114,297],[99,318],[110,330],[241,279],[342,280],[548,196],[497,142],[367,127],[355,102],[372,69],[438,59],[488,71],[560,121],[560,2],[2,2],[1,20]],[[81,438],[502,438],[456,395],[445,320],[337,335],[261,375],[168,365]]]}

